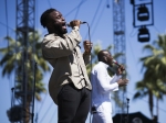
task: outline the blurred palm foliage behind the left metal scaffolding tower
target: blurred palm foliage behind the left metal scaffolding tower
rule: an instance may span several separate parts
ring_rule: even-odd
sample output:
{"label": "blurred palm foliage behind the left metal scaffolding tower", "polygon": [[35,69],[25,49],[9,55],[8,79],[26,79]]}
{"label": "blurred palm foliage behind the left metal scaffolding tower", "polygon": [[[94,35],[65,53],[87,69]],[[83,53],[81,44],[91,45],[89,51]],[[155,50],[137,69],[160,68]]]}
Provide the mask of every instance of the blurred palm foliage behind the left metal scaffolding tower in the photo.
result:
{"label": "blurred palm foliage behind the left metal scaffolding tower", "polygon": [[[42,81],[43,79],[43,74],[45,71],[50,71],[50,67],[45,63],[45,60],[42,58],[42,53],[40,48],[40,37],[41,35],[39,32],[34,32],[34,40],[33,40],[33,33],[29,34],[29,47],[27,48],[27,54],[28,54],[28,62],[22,63],[22,51],[24,47],[22,44],[22,38],[19,38],[18,41],[14,41],[13,38],[7,36],[4,37],[6,40],[9,41],[9,47],[0,48],[0,53],[2,54],[2,59],[0,62],[0,66],[2,67],[2,76],[10,76],[12,72],[15,72],[15,98],[22,100],[22,66],[23,64],[25,65],[27,69],[27,90],[28,92],[32,92],[32,87],[33,87],[33,80],[34,80],[34,67],[33,63],[38,63],[38,70],[35,72],[35,99],[38,101],[41,101],[40,94],[43,92],[46,92],[46,89],[44,87],[44,82]],[[35,41],[35,42],[34,42]],[[35,54],[33,53],[33,48],[31,46],[34,45]],[[21,71],[21,72],[20,72]],[[30,104],[32,102],[32,94],[28,94],[27,97],[27,102],[25,102],[25,116],[27,116],[27,123],[30,120]],[[9,120],[12,114],[12,112],[9,112]]]}

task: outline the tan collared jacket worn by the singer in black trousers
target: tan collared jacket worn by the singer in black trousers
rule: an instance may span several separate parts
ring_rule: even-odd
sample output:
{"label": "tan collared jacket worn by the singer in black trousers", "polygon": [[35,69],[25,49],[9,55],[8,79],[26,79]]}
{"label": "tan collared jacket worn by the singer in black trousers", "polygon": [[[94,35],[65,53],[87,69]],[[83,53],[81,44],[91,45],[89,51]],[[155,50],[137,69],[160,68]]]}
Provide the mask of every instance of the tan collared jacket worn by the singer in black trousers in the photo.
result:
{"label": "tan collared jacket worn by the singer in black trousers", "polygon": [[[77,89],[83,87],[92,89],[85,67],[91,60],[91,54],[81,53],[79,45],[81,41],[77,26],[63,38],[53,33],[45,35],[42,41],[43,58],[53,67],[49,80],[49,93],[56,104],[58,93],[65,83],[73,82]],[[81,82],[82,79],[85,80],[85,85]]]}

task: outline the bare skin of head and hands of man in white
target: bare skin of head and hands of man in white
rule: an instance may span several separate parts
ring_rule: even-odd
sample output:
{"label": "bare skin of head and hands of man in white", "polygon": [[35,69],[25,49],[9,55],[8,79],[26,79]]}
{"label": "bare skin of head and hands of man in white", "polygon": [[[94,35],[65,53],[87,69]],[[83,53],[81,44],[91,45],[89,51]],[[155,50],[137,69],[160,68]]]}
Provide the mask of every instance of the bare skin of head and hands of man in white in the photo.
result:
{"label": "bare skin of head and hands of man in white", "polygon": [[[110,52],[105,52],[105,51],[103,52],[103,51],[102,51],[101,54],[102,54],[102,59],[101,59],[101,62],[105,63],[105,64],[108,65],[108,66],[113,66],[113,57],[112,57],[111,53],[110,53]],[[120,67],[118,67],[118,69],[117,69],[117,75],[122,75],[123,70],[124,70],[124,66],[123,66],[123,65],[120,65]],[[127,79],[120,79],[120,80],[117,81],[117,83],[118,83],[120,87],[126,86],[126,85],[128,83],[128,80],[127,80]]]}

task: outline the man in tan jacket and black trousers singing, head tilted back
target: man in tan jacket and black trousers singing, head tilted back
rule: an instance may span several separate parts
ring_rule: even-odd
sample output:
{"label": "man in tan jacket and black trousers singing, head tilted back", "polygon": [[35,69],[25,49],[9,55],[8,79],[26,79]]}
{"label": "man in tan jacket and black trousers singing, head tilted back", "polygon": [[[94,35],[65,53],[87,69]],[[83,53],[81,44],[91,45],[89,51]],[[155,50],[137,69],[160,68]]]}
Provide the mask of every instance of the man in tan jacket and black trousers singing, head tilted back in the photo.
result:
{"label": "man in tan jacket and black trousers singing, head tilted back", "polygon": [[58,123],[85,123],[90,109],[91,82],[85,65],[91,60],[92,43],[84,41],[85,52],[81,54],[81,21],[66,22],[60,11],[49,9],[41,15],[41,25],[48,29],[42,41],[42,54],[53,67],[49,92],[58,104]]}

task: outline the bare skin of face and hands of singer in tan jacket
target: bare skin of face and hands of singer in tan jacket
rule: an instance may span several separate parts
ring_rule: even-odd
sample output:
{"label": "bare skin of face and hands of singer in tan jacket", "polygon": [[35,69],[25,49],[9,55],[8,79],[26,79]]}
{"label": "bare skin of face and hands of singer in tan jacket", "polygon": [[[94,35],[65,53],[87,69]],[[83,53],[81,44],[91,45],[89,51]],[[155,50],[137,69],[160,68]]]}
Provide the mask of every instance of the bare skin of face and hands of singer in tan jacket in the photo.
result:
{"label": "bare skin of face and hands of singer in tan jacket", "polygon": [[[81,21],[80,20],[74,20],[70,22],[71,27],[73,29],[74,26],[80,27]],[[59,36],[63,37],[63,34],[68,33],[66,30],[66,22],[61,12],[59,11],[53,11],[50,13],[49,16],[49,22],[46,24],[46,29],[49,34],[55,33]],[[91,48],[92,48],[92,43],[90,41],[84,41],[83,42],[85,53],[90,54]]]}

